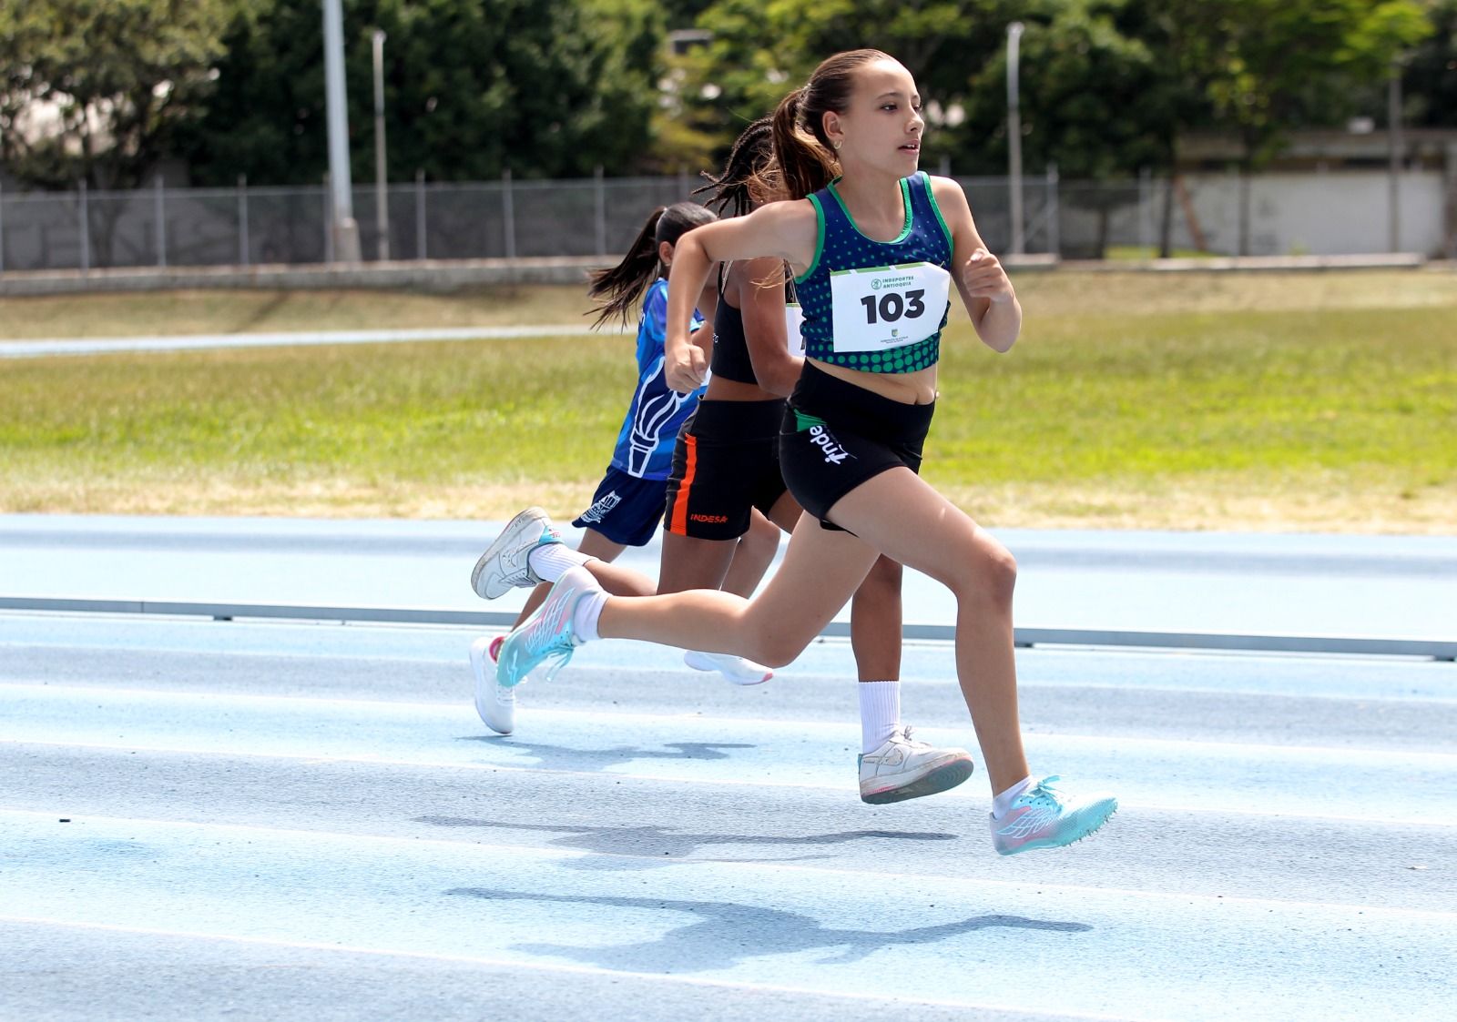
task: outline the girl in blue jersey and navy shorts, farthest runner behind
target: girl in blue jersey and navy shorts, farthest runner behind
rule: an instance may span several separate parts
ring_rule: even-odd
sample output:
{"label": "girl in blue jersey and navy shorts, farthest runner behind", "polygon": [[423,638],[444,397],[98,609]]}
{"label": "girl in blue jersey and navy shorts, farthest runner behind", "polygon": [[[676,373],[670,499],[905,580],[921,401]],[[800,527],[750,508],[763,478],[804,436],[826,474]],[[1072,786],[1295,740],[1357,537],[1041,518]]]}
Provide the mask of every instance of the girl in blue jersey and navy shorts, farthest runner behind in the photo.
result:
{"label": "girl in blue jersey and navy shorts, farthest runner behind", "polygon": [[[667,312],[667,281],[673,266],[673,250],[679,237],[717,217],[696,202],[676,202],[654,210],[622,261],[610,269],[593,274],[587,294],[602,304],[597,309],[597,326],[621,319],[628,322],[632,309],[641,301],[637,335],[638,384],[618,431],[618,443],[612,462],[602,483],[592,498],[592,505],[573,526],[584,530],[577,550],[554,546],[542,555],[546,563],[545,577],[535,575],[522,565],[507,571],[513,582],[503,582],[501,540],[498,540],[471,575],[471,587],[478,595],[491,600],[503,595],[511,585],[542,582],[570,566],[592,563],[590,571],[610,593],[624,595],[650,595],[657,591],[653,582],[635,571],[616,568],[610,562],[628,546],[644,546],[657,533],[663,520],[663,495],[672,467],[673,444],[683,421],[698,406],[701,390],[678,393],[672,390],[663,374],[663,338]],[[712,314],[717,291],[704,288],[696,300],[699,309]],[[694,326],[704,323],[702,314],[694,312]],[[519,540],[523,536],[536,540],[549,528],[546,512],[541,508],[523,511],[507,526],[503,540]],[[778,549],[779,533],[762,515],[756,515],[755,527],[734,544],[728,555],[731,563],[723,585],[730,593],[747,595],[758,587]],[[525,569],[525,571],[523,571]],[[497,572],[497,574],[492,574]],[[538,585],[517,617],[525,620],[542,600],[549,585]],[[476,709],[482,719],[495,731],[510,734],[514,726],[516,702],[510,689],[497,690],[494,661],[500,639],[478,642],[472,646],[471,662],[476,673]],[[740,657],[723,654],[689,654],[691,665],[698,670],[717,670],[739,684],[755,684],[772,677],[761,664],[750,664]]]}

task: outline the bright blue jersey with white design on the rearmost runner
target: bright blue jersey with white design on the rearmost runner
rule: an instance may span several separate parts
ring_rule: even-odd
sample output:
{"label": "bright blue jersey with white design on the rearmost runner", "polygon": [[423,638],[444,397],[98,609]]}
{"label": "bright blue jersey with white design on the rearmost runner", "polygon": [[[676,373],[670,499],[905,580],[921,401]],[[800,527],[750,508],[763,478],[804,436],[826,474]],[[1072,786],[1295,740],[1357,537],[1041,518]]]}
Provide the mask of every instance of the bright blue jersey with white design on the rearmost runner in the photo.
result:
{"label": "bright blue jersey with white design on the rearmost runner", "polygon": [[[694,312],[694,329],[704,317]],[[667,281],[659,277],[643,298],[638,323],[638,386],[612,450],[612,467],[638,479],[667,479],[673,469],[678,429],[698,408],[704,390],[680,395],[663,376],[663,342],[667,336]]]}

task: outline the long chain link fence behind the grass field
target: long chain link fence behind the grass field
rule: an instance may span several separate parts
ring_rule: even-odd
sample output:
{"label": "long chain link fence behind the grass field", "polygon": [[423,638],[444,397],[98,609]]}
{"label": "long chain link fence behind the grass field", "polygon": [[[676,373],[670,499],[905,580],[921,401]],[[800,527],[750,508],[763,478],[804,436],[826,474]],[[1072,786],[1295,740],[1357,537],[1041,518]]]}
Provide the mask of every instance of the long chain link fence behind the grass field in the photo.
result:
{"label": "long chain link fence behind the grass field", "polygon": [[[1393,237],[1390,182],[1380,173],[1271,175],[1241,198],[1221,175],[1174,182],[1023,181],[1024,250],[1096,259],[1118,249],[1238,253],[1241,202],[1250,208],[1249,255],[1384,252]],[[1396,237],[1405,249],[1441,255],[1453,202],[1442,176],[1403,176]],[[991,250],[1011,247],[1005,178],[959,178]],[[389,258],[514,259],[615,256],[657,205],[691,198],[699,182],[675,178],[589,178],[390,185]],[[366,261],[379,253],[373,188],[356,188],[354,215]],[[1330,208],[1361,210],[1333,234]],[[1450,214],[1450,211],[1447,211]],[[312,188],[154,188],[130,192],[0,192],[0,272],[141,266],[255,266],[334,259],[326,183]]]}

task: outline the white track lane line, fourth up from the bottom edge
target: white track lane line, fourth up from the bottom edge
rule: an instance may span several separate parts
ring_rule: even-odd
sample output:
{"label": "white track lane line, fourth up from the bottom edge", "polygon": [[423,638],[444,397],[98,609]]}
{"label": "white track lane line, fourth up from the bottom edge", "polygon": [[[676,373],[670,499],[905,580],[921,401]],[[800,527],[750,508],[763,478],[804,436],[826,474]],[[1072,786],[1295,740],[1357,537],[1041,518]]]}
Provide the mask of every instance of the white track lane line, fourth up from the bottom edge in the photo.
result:
{"label": "white track lane line, fourth up from the bottom edge", "polygon": [[[103,697],[112,702],[127,702],[133,697],[137,700],[152,700],[152,702],[191,702],[191,703],[205,703],[210,706],[220,706],[227,703],[235,703],[240,706],[251,708],[265,708],[265,709],[280,709],[280,710],[294,710],[299,708],[313,708],[313,706],[332,706],[348,710],[366,710],[366,712],[399,712],[399,710],[414,710],[418,713],[439,715],[444,721],[453,722],[455,718],[462,716],[462,708],[465,703],[465,693],[462,687],[460,702],[431,702],[418,703],[407,700],[379,700],[379,699],[339,699],[339,697],[325,697],[325,696],[264,696],[264,694],[248,694],[248,693],[198,693],[198,692],[173,692],[168,689],[133,689],[133,687],[103,687],[103,686],[68,686],[68,684],[34,684],[23,681],[0,681],[0,694],[4,692],[15,692],[17,694],[29,694],[39,697],[60,696],[60,697],[79,697],[79,699],[96,699]],[[57,700],[58,702],[58,700]],[[592,709],[592,710],[564,710],[564,709],[536,709],[532,708],[533,718],[542,718],[546,721],[571,721],[576,724],[593,724],[603,716],[622,716],[631,718],[638,722],[647,724],[683,724],[692,722],[695,725],[728,725],[728,726],[762,726],[769,729],[784,729],[787,722],[782,718],[755,718],[755,716],[707,716],[698,710],[683,710],[682,713],[641,713],[641,712],[613,712],[608,708]],[[969,724],[969,721],[967,721]],[[848,725],[841,721],[794,721],[793,729],[796,732],[814,731],[823,735],[844,737],[845,728]],[[962,728],[925,728],[927,731],[959,731]],[[1072,745],[1099,745],[1107,747],[1116,744],[1119,750],[1147,750],[1154,753],[1167,753],[1173,750],[1199,750],[1206,753],[1222,753],[1222,754],[1238,754],[1238,756],[1329,756],[1329,757],[1351,757],[1359,756],[1364,763],[1375,763],[1386,766],[1412,767],[1423,766],[1432,770],[1457,770],[1457,753],[1419,753],[1407,750],[1383,750],[1383,748],[1364,748],[1359,745],[1301,745],[1301,744],[1262,744],[1262,742],[1234,742],[1234,741],[1203,741],[1192,738],[1129,738],[1118,737],[1110,738],[1107,735],[1080,735],[1068,734],[1059,731],[1024,731],[1024,738],[1036,740],[1053,740],[1058,742],[1067,742]]]}

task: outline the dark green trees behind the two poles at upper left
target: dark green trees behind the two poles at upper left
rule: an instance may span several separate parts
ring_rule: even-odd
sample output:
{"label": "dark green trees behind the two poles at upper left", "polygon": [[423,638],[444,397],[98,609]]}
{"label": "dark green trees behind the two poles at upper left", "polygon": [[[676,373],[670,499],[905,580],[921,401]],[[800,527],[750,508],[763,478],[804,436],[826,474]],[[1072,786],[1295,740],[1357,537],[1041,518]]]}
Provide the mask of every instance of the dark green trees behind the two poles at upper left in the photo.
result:
{"label": "dark green trees behind the two poles at upper left", "polygon": [[[386,32],[392,179],[589,176],[650,143],[663,23],[651,0],[344,4],[351,170],[373,176],[370,36]],[[227,33],[217,96],[186,140],[201,182],[316,181],[328,167],[318,0],[274,0]]]}

